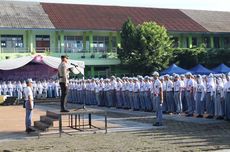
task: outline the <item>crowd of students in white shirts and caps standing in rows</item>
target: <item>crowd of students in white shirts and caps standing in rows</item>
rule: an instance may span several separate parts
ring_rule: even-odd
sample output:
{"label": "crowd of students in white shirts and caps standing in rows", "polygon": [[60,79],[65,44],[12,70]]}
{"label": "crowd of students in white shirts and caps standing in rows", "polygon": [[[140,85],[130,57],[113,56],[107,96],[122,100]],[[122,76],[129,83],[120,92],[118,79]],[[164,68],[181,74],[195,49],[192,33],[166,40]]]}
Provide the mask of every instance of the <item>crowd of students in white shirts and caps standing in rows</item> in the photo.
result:
{"label": "crowd of students in white shirts and caps standing in rows", "polygon": [[[187,116],[230,119],[230,73],[173,74],[160,76],[157,80],[159,82],[153,76],[71,79],[68,102],[155,112],[154,98],[159,96],[162,87],[162,111],[165,113],[185,112]],[[25,82],[1,82],[0,95],[21,100],[25,87]],[[35,98],[58,98],[60,92],[58,81],[33,82]]]}

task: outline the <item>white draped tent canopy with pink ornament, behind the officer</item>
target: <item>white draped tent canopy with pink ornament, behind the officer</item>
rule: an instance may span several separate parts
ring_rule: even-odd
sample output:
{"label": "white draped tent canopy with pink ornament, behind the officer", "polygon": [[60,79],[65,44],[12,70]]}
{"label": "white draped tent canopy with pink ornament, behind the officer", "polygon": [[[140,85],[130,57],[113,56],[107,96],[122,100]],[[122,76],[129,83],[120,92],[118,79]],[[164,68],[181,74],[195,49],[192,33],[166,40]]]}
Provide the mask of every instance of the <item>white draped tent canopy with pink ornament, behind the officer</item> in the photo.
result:
{"label": "white draped tent canopy with pink ornament, behind the officer", "polygon": [[[0,61],[0,70],[14,70],[24,65],[28,64],[31,61],[45,63],[46,65],[57,69],[59,64],[61,63],[61,59],[57,57],[51,56],[41,56],[41,55],[31,55],[26,57],[20,57],[16,59],[7,59]],[[74,74],[83,74],[85,63],[83,61],[69,60],[69,68],[71,68]],[[76,67],[74,66],[76,65]]]}

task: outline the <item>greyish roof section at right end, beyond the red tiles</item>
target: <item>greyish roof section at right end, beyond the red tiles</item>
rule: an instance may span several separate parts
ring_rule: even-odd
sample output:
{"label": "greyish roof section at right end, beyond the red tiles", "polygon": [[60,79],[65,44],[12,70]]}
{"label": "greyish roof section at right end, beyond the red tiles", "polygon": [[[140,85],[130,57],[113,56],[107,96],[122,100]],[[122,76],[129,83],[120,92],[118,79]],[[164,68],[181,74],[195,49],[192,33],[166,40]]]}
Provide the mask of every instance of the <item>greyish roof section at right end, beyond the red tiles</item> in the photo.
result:
{"label": "greyish roof section at right end, beyond the red tiles", "polygon": [[230,12],[181,10],[210,32],[230,32]]}

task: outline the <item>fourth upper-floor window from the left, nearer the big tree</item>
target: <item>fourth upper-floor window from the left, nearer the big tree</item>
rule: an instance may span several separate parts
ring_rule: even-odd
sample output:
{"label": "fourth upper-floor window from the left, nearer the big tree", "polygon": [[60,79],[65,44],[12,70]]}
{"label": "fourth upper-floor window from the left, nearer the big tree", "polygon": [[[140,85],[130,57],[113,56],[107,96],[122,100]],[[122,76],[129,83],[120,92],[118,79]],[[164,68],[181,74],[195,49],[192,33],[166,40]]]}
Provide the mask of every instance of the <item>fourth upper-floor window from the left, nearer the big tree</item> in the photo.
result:
{"label": "fourth upper-floor window from the left, nearer the big tree", "polygon": [[93,50],[105,52],[108,50],[109,37],[108,36],[94,36],[93,37]]}

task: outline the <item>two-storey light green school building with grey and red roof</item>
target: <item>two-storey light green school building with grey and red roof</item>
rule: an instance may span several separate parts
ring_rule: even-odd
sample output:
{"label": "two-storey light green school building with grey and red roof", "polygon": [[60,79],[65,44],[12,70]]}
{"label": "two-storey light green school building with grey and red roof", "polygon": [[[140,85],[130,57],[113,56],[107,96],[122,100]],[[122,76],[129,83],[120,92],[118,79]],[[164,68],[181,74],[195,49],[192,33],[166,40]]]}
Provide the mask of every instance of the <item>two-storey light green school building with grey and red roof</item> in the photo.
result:
{"label": "two-storey light green school building with grey and red roof", "polygon": [[174,47],[230,48],[230,12],[2,1],[0,60],[67,54],[85,62],[86,76],[120,73],[117,48],[128,18],[165,26]]}

